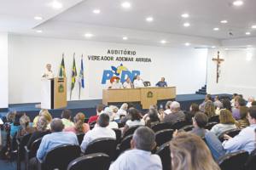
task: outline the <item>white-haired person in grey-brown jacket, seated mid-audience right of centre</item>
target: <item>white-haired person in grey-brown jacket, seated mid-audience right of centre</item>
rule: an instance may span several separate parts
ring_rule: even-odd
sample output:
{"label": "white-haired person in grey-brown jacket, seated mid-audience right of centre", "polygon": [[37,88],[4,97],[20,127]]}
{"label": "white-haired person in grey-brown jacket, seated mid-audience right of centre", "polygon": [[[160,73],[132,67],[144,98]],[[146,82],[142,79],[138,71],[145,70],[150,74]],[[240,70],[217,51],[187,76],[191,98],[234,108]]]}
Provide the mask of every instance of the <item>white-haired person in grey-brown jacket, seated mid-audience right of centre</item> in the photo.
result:
{"label": "white-haired person in grey-brown jacket, seated mid-audience right of centre", "polygon": [[163,118],[163,122],[170,122],[171,124],[174,124],[177,121],[185,120],[185,114],[183,113],[183,111],[180,111],[180,104],[177,101],[172,102],[171,111],[171,114],[166,115]]}

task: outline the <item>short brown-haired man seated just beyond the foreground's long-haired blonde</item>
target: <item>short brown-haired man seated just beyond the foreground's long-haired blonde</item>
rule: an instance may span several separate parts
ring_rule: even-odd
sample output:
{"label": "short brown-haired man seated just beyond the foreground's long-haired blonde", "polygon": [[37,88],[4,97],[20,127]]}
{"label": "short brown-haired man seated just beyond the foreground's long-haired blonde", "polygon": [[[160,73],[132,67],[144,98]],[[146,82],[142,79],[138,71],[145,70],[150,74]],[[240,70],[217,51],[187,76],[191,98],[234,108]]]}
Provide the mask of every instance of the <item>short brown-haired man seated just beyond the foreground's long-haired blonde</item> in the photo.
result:
{"label": "short brown-haired man seated just beyond the foreground's long-haired blonde", "polygon": [[208,117],[206,114],[204,114],[201,111],[198,111],[195,113],[195,116],[193,117],[193,126],[194,128],[189,131],[189,133],[194,133],[197,136],[200,136],[201,138],[205,137],[205,134],[207,133],[207,129],[205,128],[208,122]]}

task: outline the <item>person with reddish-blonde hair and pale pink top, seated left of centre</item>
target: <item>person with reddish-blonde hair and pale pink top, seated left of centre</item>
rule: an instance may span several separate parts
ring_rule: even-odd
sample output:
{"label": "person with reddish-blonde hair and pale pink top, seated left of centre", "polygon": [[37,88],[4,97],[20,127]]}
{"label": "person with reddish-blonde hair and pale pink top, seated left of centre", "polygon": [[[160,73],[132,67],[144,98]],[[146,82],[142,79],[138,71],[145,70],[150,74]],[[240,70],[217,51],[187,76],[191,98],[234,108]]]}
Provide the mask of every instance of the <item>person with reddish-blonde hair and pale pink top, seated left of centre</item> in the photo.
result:
{"label": "person with reddish-blonde hair and pale pink top, seated left of centre", "polygon": [[79,112],[76,116],[73,117],[74,126],[70,126],[64,129],[65,132],[73,133],[87,133],[90,131],[90,126],[87,123],[84,123],[84,113]]}

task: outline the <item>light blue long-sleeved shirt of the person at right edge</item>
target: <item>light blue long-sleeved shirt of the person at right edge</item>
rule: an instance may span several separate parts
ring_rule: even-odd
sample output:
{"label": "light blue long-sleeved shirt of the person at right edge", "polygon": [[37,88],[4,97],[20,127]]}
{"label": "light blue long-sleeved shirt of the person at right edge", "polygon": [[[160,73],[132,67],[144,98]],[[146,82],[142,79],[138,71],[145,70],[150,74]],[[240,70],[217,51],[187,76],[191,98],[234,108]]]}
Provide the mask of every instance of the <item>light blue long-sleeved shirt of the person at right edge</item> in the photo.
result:
{"label": "light blue long-sleeved shirt of the person at right edge", "polygon": [[241,130],[234,138],[224,141],[222,144],[227,153],[237,150],[246,150],[251,153],[255,149],[255,132],[256,124],[252,124]]}

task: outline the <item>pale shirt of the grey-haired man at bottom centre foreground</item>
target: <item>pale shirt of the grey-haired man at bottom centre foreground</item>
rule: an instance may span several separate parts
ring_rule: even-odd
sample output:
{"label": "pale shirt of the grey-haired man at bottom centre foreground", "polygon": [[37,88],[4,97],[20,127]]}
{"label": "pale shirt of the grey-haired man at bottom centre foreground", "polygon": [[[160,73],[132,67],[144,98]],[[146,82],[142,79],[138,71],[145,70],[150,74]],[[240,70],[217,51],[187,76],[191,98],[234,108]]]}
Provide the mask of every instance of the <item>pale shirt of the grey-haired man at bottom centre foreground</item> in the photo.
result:
{"label": "pale shirt of the grey-haired man at bottom centre foreground", "polygon": [[160,156],[145,150],[127,150],[114,161],[109,170],[162,170]]}

